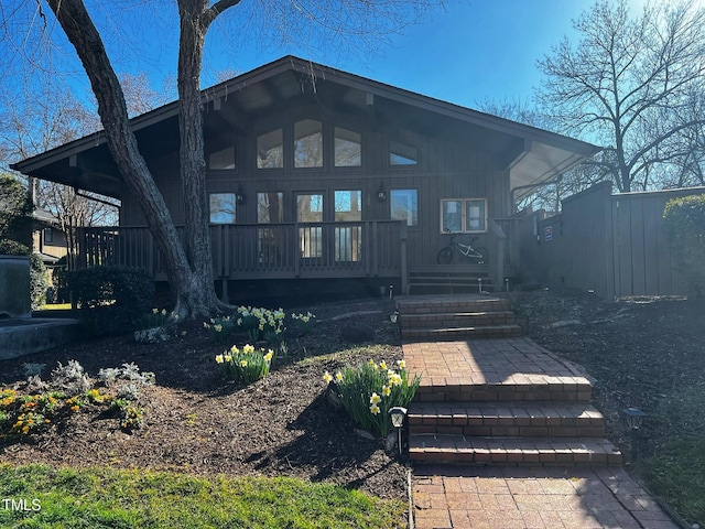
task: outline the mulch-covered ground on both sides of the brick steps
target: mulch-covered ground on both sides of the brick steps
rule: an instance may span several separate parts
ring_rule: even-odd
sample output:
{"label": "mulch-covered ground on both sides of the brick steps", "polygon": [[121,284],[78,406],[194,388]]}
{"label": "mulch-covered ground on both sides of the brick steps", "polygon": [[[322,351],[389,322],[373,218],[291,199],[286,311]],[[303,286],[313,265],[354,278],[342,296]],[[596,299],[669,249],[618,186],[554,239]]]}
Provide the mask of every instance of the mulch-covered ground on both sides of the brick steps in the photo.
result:
{"label": "mulch-covered ground on both sides of the brick steps", "polygon": [[[528,334],[550,350],[582,365],[594,378],[594,400],[606,415],[608,438],[627,446],[619,411],[654,410],[674,388],[705,382],[705,310],[682,300],[634,299],[607,303],[587,293],[506,294]],[[145,421],[132,434],[89,409],[20,443],[0,444],[0,462],[111,465],[174,469],[202,475],[293,476],[406,498],[408,464],[379,440],[354,433],[355,424],[326,398],[325,370],[370,357],[401,358],[389,322],[388,300],[361,300],[299,307],[316,314],[314,332],[288,331],[289,358],[275,359],[269,377],[249,386],[226,381],[203,322],[186,324],[170,342],[142,345],[131,336],[86,339],[50,352],[0,361],[0,386],[21,388],[23,363],[44,363],[44,375],[69,359],[95,377],[100,368],[134,363],[154,371],[143,391]],[[288,311],[289,312],[289,311]],[[343,357],[321,357],[356,347],[340,337],[355,322],[375,328],[375,343]],[[238,339],[245,343],[245,337]],[[646,428],[644,428],[646,430]],[[658,450],[668,431],[649,431]]]}

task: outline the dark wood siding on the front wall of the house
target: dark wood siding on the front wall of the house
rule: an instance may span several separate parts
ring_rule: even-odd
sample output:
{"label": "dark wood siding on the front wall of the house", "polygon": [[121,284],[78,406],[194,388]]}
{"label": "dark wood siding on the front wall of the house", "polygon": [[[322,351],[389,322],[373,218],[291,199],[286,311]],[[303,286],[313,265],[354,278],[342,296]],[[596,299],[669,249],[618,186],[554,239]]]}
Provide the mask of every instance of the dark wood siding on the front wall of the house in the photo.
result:
{"label": "dark wood siding on the front wall of the house", "polygon": [[[311,118],[324,123],[325,168],[294,170],[291,162],[284,169],[256,169],[257,136],[282,127],[284,129],[285,155],[291,158],[293,143],[291,130],[296,120]],[[344,127],[361,133],[362,165],[360,168],[333,168],[330,154],[334,127]],[[423,129],[423,126],[417,127]],[[344,112],[322,112],[318,106],[302,106],[290,111],[270,114],[251,123],[252,133],[232,133],[228,140],[236,144],[236,166],[234,171],[209,171],[208,193],[239,193],[245,202],[237,205],[237,224],[257,223],[257,194],[282,192],[284,197],[284,223],[295,222],[295,194],[322,193],[328,212],[325,220],[333,220],[333,194],[335,191],[361,190],[362,220],[390,219],[390,190],[417,190],[419,225],[408,230],[409,268],[436,264],[438,249],[447,244],[440,228],[441,198],[487,198],[489,218],[502,218],[509,214],[509,171],[503,162],[474,149],[463,138],[447,133],[425,134],[394,123],[380,123],[373,116],[357,116]],[[400,141],[415,147],[419,163],[413,166],[390,166],[389,143]],[[223,138],[206,138],[206,152],[223,149]],[[289,150],[289,151],[288,151]],[[174,223],[183,224],[183,199],[178,182],[177,153],[161,160],[148,161],[159,187],[172,210]],[[377,192],[382,185],[387,199],[380,202]],[[123,201],[121,226],[144,226],[139,206],[133,199]],[[490,249],[488,234],[479,235],[477,245]],[[463,239],[463,237],[460,237]],[[490,255],[490,260],[492,256]]]}

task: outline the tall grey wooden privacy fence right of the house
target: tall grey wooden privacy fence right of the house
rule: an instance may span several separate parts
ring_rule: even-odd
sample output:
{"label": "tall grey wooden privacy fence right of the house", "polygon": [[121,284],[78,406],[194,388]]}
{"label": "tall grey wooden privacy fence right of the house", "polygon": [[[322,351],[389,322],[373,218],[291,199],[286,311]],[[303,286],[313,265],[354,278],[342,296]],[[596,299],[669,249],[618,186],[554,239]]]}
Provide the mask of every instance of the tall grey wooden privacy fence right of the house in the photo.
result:
{"label": "tall grey wooden privacy fence right of the house", "polygon": [[592,290],[601,298],[686,294],[663,226],[663,207],[705,187],[612,195],[603,182],[563,201],[563,212],[536,212],[519,223],[524,280]]}

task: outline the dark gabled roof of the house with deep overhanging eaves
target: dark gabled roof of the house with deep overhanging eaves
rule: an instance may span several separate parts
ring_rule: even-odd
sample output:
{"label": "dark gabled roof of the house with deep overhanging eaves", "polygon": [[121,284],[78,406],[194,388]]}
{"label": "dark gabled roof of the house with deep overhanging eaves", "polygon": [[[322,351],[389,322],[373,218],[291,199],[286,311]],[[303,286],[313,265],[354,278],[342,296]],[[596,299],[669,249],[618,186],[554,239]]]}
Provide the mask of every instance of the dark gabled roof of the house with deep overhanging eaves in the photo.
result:
{"label": "dark gabled roof of the house with deep overhanging eaves", "polygon": [[[510,170],[511,188],[549,181],[599,152],[599,148],[546,130],[441,101],[293,56],[285,56],[202,90],[204,131],[225,125],[248,131],[268,107],[304,98],[326,108],[365,112],[380,122],[470,142]],[[216,111],[217,110],[217,111]],[[178,149],[178,104],[171,102],[131,120],[145,158]],[[96,132],[15,163],[24,174],[120,197],[124,191]],[[519,192],[516,197],[523,193]]]}

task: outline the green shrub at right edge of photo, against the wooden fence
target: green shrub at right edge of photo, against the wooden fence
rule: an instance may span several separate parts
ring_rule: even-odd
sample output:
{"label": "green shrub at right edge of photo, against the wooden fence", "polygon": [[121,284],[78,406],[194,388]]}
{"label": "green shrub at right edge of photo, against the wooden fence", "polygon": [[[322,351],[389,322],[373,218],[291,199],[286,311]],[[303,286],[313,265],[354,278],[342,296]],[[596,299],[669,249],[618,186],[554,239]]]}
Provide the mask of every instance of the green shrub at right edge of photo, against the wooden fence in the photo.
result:
{"label": "green shrub at right edge of photo, against the wooden fence", "polygon": [[663,220],[688,295],[705,296],[705,195],[669,201]]}

